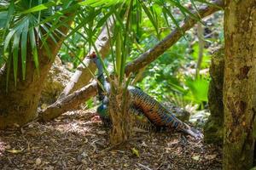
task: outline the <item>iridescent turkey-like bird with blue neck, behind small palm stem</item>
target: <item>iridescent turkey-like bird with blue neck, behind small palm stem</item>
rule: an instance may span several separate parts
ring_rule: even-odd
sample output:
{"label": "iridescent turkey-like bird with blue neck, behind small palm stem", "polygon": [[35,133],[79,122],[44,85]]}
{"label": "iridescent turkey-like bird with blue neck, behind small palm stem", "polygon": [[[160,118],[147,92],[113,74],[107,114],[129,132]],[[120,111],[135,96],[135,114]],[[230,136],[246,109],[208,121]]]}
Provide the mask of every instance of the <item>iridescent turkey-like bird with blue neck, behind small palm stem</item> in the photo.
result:
{"label": "iridescent turkey-like bird with blue neck, behind small palm stem", "polygon": [[[97,107],[97,114],[101,117],[102,122],[110,122],[108,114],[108,96],[110,93],[110,84],[103,74],[102,61],[97,57],[96,53],[87,56],[92,59],[98,69],[98,98],[100,105]],[[156,99],[143,92],[141,88],[128,86],[128,91],[131,94],[131,106],[129,111],[131,115],[137,117],[137,122],[151,123],[153,127],[164,127],[176,129],[178,132],[189,134],[195,139],[203,139],[203,134],[190,127],[187,123],[180,121],[171,110],[168,110],[164,105],[161,105]],[[143,117],[146,117],[144,119]]]}

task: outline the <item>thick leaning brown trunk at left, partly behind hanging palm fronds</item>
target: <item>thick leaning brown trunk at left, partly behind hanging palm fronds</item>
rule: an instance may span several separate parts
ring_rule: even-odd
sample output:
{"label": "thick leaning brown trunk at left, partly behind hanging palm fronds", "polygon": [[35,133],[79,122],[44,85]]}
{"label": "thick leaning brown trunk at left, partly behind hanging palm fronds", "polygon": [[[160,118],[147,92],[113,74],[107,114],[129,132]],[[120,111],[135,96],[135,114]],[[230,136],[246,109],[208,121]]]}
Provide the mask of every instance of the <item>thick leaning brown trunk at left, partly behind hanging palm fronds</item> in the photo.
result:
{"label": "thick leaning brown trunk at left, partly behind hanging palm fronds", "polygon": [[[68,24],[71,24],[71,22]],[[59,28],[59,30],[64,35],[68,31],[64,26]],[[14,125],[21,126],[38,116],[38,101],[44,88],[44,80],[55,59],[55,55],[61,48],[61,42],[63,40],[64,38],[62,37],[55,43],[49,39],[48,45],[53,57],[52,59],[49,59],[44,48],[38,48],[39,74],[35,69],[32,51],[28,48],[26,56],[26,80],[22,80],[21,62],[19,61],[16,87],[12,68],[10,69],[8,91],[6,90],[7,68],[4,68],[0,72],[0,129],[13,127]]]}

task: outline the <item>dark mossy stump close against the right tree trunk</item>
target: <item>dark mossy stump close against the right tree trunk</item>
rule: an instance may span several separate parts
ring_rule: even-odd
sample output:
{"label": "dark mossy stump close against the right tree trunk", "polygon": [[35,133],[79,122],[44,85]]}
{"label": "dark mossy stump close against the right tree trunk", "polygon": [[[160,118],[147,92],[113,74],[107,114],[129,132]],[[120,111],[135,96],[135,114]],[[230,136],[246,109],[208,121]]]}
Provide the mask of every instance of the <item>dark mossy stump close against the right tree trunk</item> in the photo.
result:
{"label": "dark mossy stump close against the right tree trunk", "polygon": [[224,132],[224,48],[219,48],[212,54],[210,76],[212,80],[209,84],[208,102],[211,116],[204,127],[204,136],[207,143],[222,144]]}

